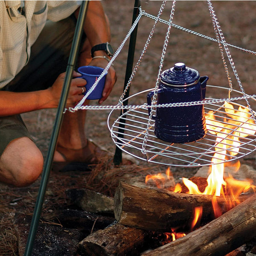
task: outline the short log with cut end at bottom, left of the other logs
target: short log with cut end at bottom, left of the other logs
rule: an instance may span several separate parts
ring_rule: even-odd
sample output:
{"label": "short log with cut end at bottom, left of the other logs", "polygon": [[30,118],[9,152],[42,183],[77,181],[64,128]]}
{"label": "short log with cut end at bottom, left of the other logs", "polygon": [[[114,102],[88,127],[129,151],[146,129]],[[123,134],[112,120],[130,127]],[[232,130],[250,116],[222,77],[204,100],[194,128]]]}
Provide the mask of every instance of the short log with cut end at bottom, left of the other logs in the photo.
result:
{"label": "short log with cut end at bottom, left of the other logs", "polygon": [[148,232],[115,224],[98,230],[79,243],[79,255],[123,256],[140,255],[148,244]]}

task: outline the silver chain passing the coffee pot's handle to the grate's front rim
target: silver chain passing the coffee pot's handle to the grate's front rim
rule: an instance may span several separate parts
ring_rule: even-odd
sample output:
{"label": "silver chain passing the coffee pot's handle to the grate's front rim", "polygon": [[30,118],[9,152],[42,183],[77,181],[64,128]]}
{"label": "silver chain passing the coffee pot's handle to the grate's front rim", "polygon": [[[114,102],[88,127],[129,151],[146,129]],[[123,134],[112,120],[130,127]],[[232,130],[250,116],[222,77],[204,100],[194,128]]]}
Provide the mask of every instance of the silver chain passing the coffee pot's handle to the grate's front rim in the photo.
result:
{"label": "silver chain passing the coffee pot's handle to the grate's front rim", "polygon": [[[155,85],[155,88],[154,88],[154,95],[153,95],[153,99],[152,99],[153,105],[157,103],[157,101],[156,101],[156,99],[157,99],[157,90],[158,90],[158,87],[159,87],[160,75],[161,75],[162,69],[163,69],[163,61],[164,61],[164,57],[166,55],[166,49],[167,49],[167,45],[168,45],[168,42],[169,42],[170,30],[172,28],[172,20],[173,20],[173,16],[174,16],[174,12],[175,12],[175,4],[176,4],[176,1],[174,0],[172,2],[172,10],[171,10],[170,18],[169,18],[169,27],[168,27],[168,30],[166,32],[166,38],[165,38],[165,41],[164,41],[164,44],[163,44],[163,51],[162,51],[160,66],[159,66],[158,75],[157,75],[157,82],[156,82],[156,85]],[[150,122],[152,120],[153,111],[154,111],[154,108],[152,107],[151,110],[150,110],[148,125],[147,125],[147,129],[145,131],[145,136],[144,136],[143,145],[142,145],[142,149],[141,149],[142,154],[147,153],[146,152],[146,145],[147,145],[147,140],[148,140],[148,130],[151,126]]]}

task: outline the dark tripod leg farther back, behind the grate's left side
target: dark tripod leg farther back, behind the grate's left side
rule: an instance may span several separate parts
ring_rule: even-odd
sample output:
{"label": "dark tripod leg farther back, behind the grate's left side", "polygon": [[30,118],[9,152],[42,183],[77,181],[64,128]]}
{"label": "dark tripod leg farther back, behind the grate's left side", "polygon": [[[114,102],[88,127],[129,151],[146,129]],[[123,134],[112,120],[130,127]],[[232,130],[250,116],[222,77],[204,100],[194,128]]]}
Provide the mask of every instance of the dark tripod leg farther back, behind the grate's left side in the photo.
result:
{"label": "dark tripod leg farther back, behind the grate's left side", "polygon": [[[133,17],[132,17],[132,24],[136,20],[136,18],[139,15],[139,7],[140,7],[140,0],[135,0],[134,2],[134,12],[133,12]],[[125,71],[125,84],[124,84],[124,90],[126,87],[126,84],[128,83],[131,73],[132,73],[132,68],[133,68],[133,61],[134,61],[134,51],[135,51],[135,46],[136,46],[136,38],[137,38],[137,30],[138,30],[138,24],[135,27],[134,31],[131,33],[131,38],[129,42],[129,49],[128,49],[128,57],[127,57],[127,64],[126,64],[126,71]],[[128,105],[128,100],[125,100],[129,97],[129,91],[130,87],[128,88],[127,92],[125,93],[124,96],[124,103],[123,105]],[[123,112],[121,111],[120,115],[122,113],[125,113],[127,110],[124,109]],[[118,129],[118,137],[123,138],[124,130],[125,128],[125,119],[120,119],[120,124],[119,124],[119,129]],[[117,139],[117,143],[120,143],[120,140]],[[115,165],[119,165],[122,162],[122,150],[116,146],[116,151],[114,155],[113,162]]]}

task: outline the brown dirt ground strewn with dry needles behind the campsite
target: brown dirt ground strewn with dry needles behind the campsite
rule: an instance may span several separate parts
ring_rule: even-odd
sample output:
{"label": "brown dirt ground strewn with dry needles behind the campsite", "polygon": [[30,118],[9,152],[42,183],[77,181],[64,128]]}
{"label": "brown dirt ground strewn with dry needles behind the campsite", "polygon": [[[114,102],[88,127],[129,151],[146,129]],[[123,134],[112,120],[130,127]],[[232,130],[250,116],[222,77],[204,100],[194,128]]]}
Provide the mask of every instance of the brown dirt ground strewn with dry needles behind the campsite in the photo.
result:
{"label": "brown dirt ground strewn with dry needles behind the campsite", "polygon": [[[123,0],[104,0],[102,3],[111,24],[111,44],[117,49],[131,27],[134,1],[125,1],[124,4]],[[141,4],[145,12],[157,15],[161,3],[161,1],[142,0]],[[212,1],[212,4],[227,43],[256,51],[256,1]],[[167,1],[162,19],[169,20],[171,7],[172,1]],[[206,1],[177,1],[173,23],[215,38]],[[141,18],[134,63],[140,57],[153,25],[154,20],[145,16]],[[157,25],[148,51],[131,84],[130,95],[155,86],[167,28],[168,26],[165,24]],[[230,52],[245,92],[249,95],[256,93],[255,56],[234,48],[230,48]],[[114,61],[118,80],[111,96],[104,102],[104,105],[116,105],[122,94],[127,54],[128,42]],[[198,70],[201,76],[209,76],[208,84],[228,88],[227,75],[219,54],[218,44],[215,42],[172,28],[163,70],[172,67],[176,62],[184,62],[187,66]],[[229,64],[228,67],[233,87],[240,90]],[[227,98],[227,95],[220,95],[218,90],[214,90],[208,96],[218,99]],[[137,104],[133,101],[130,103]],[[97,103],[91,102],[91,104],[96,105]],[[254,100],[251,101],[251,104],[255,110]],[[55,113],[56,110],[44,110],[23,114],[23,119],[44,157],[47,155]],[[108,130],[108,114],[108,110],[88,111],[86,132],[89,138],[100,145],[104,145],[110,152],[114,152],[116,146]],[[241,161],[255,167],[255,154],[252,153]],[[148,164],[146,161],[140,160],[134,169],[137,170],[137,173],[141,170],[142,174],[144,172],[157,173],[165,170],[166,166]],[[192,177],[196,172],[195,168],[172,167],[171,169],[175,179]],[[120,167],[120,172],[123,171],[127,171],[127,169]],[[49,187],[46,192],[42,215],[46,217],[51,215],[55,209],[67,207],[70,202],[67,201],[64,191],[71,188],[90,188],[92,183],[89,186],[87,182],[89,177],[90,173],[86,172],[70,174],[70,172],[59,173],[53,170],[49,177]],[[40,180],[41,178],[25,188],[12,188],[0,184],[0,256],[17,255],[17,238],[12,225],[13,217],[16,212],[33,214]],[[100,190],[99,187],[97,189]],[[113,189],[110,188],[108,191],[106,189],[101,192],[111,194]]]}

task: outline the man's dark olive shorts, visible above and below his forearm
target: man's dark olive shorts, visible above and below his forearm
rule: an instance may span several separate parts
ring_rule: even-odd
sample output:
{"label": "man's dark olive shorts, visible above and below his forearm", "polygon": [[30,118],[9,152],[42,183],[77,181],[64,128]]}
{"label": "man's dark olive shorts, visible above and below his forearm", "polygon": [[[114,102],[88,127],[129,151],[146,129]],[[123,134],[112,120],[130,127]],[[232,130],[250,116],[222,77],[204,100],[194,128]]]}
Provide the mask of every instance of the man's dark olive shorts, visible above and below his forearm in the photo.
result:
{"label": "man's dark olive shorts, visible above and below his forearm", "polygon": [[[2,90],[27,92],[50,87],[67,69],[75,28],[73,16],[47,21],[31,48],[28,64]],[[0,117],[0,156],[12,140],[20,137],[32,139],[20,115]]]}

